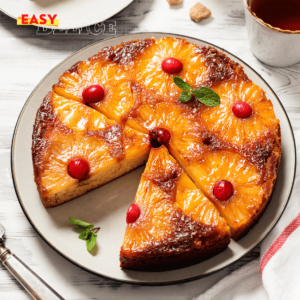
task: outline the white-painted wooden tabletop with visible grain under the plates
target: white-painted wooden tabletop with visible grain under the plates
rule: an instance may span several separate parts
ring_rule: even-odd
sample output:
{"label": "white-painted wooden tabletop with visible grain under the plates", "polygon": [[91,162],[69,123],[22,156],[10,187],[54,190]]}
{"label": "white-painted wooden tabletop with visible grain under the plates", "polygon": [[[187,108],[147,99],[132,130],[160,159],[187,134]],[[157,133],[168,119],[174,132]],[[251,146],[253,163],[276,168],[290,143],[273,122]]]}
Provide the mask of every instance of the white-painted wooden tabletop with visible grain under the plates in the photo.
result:
{"label": "white-painted wooden tabletop with visible grain under the plates", "polygon": [[[300,130],[300,64],[270,68],[251,53],[243,0],[202,0],[212,17],[196,24],[188,12],[196,0],[169,7],[165,0],[135,0],[112,18],[116,34],[158,31],[185,34],[216,44],[251,65],[280,97],[294,130]],[[15,195],[10,147],[18,115],[38,82],[75,51],[107,35],[37,35],[36,28],[17,26],[0,12],[0,222],[7,228],[6,245],[66,299],[191,299],[240,265],[259,256],[259,247],[233,266],[190,283],[163,287],[121,284],[79,269],[52,250],[30,226]],[[297,51],[295,49],[295,51]],[[31,170],[29,170],[31,172]],[[0,266],[0,299],[29,296]]]}

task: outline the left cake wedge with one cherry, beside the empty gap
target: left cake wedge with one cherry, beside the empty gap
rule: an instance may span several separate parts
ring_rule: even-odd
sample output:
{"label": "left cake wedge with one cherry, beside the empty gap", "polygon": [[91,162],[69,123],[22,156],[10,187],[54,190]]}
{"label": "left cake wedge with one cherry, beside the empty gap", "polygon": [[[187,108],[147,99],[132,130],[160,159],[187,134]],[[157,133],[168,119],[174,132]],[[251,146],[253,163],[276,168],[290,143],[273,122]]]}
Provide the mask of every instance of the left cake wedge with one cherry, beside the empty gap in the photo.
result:
{"label": "left cake wedge with one cherry, beside the empty gap", "polygon": [[37,112],[34,176],[45,207],[57,206],[144,164],[149,137],[50,92]]}

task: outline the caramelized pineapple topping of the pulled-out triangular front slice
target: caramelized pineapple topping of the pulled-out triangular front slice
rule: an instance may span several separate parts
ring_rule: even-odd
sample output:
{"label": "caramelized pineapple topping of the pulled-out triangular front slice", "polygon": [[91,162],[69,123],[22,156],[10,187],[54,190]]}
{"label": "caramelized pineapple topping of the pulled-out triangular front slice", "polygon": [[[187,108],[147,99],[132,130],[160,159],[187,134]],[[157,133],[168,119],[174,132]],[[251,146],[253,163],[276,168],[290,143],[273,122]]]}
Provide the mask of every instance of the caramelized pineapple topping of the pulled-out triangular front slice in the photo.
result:
{"label": "caramelized pineapple topping of the pulled-out triangular front slice", "polygon": [[193,238],[205,236],[227,236],[229,242],[225,220],[164,146],[152,148],[135,204],[141,215],[127,225],[121,256],[143,250],[149,256],[190,251],[203,246],[199,240],[193,245]]}

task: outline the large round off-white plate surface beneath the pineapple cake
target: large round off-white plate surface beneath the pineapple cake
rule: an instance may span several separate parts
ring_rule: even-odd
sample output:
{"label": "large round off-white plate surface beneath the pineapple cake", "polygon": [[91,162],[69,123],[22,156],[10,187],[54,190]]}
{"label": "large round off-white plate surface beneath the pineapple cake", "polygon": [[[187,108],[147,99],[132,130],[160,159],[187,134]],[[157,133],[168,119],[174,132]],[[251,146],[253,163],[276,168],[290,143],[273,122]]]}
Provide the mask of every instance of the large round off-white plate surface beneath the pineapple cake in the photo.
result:
{"label": "large round off-white plate surface beneath the pineapple cake", "polygon": [[[271,231],[289,200],[295,175],[296,150],[289,119],[275,93],[255,71],[226,52],[229,57],[245,68],[246,73],[255,83],[267,92],[267,97],[271,99],[276,116],[281,122],[282,160],[270,204],[259,223],[242,240],[231,241],[226,251],[200,264],[157,273],[121,270],[119,250],[125,232],[126,210],[134,201],[144,168],[139,168],[69,203],[45,209],[33,180],[32,126],[45,95],[57,82],[58,77],[77,61],[87,59],[103,47],[151,36],[155,38],[178,37],[167,33],[139,33],[115,37],[84,48],[55,67],[30,95],[20,114],[12,144],[12,174],[18,198],[27,218],[41,237],[62,256],[85,270],[111,279],[137,284],[170,284],[199,278],[228,266],[252,250]],[[197,39],[185,38],[198,45],[208,45]],[[101,226],[97,249],[93,254],[86,251],[85,243],[78,239],[78,234],[69,224],[68,219],[71,216]]]}

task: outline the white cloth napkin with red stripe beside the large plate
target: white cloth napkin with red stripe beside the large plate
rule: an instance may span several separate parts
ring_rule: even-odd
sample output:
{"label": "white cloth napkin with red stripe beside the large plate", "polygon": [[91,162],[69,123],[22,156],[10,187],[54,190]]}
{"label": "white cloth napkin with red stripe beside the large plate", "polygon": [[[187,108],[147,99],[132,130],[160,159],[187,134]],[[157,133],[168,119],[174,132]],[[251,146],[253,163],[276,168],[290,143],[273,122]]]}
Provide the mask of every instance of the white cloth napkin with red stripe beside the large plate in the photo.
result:
{"label": "white cloth napkin with red stripe beside the large plate", "polygon": [[[295,132],[300,154],[300,130]],[[193,300],[300,299],[300,163],[280,221],[261,245],[260,258],[217,282]]]}

